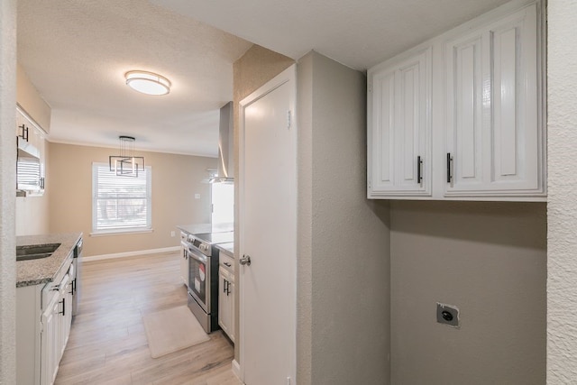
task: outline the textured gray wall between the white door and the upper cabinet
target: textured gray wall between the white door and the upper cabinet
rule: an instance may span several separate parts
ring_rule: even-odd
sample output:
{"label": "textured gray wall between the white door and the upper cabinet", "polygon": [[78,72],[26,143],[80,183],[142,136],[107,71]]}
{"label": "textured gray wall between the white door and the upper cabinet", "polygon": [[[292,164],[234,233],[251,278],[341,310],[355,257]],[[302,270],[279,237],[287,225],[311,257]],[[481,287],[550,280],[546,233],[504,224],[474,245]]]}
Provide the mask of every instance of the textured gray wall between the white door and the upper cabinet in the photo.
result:
{"label": "textured gray wall between the white door and the upper cabinet", "polygon": [[365,101],[361,72],[299,60],[299,384],[389,383],[389,211],[365,198]]}

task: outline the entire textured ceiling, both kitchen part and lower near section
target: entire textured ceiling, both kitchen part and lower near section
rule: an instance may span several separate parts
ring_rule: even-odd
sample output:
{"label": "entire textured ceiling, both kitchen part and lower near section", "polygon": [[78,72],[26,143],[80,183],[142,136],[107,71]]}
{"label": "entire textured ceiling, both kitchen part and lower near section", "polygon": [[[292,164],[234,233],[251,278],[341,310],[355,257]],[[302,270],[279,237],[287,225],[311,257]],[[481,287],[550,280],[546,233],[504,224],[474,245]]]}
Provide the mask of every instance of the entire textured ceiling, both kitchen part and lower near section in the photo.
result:
{"label": "entire textured ceiling, both kitchen part and lower near section", "polygon": [[[52,108],[50,141],[116,146],[129,134],[137,149],[215,156],[232,63],[252,42],[364,70],[504,3],[18,0],[18,60]],[[126,87],[131,69],[169,78],[170,94]]]}

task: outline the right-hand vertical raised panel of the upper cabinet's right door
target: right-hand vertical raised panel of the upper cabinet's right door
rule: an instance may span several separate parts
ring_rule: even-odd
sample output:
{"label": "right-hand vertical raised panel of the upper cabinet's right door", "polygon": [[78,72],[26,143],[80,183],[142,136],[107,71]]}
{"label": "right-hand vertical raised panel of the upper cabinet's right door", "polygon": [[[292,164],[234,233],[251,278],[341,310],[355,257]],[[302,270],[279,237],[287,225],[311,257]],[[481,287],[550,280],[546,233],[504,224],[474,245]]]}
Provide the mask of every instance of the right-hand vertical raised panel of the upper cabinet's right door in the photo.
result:
{"label": "right-hand vertical raised panel of the upper cabinet's right door", "polygon": [[490,29],[494,188],[539,187],[536,42],[536,5]]}

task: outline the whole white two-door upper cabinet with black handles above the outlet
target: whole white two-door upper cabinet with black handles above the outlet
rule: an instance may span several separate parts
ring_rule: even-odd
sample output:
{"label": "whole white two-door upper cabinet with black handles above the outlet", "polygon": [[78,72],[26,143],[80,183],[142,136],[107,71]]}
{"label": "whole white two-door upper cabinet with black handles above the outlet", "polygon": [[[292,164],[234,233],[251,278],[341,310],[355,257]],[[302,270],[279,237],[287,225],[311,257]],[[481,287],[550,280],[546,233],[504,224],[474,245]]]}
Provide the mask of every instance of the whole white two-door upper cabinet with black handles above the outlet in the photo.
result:
{"label": "whole white two-door upper cabinet with black handles above the outlet", "polygon": [[368,71],[368,197],[545,201],[544,14],[511,2]]}

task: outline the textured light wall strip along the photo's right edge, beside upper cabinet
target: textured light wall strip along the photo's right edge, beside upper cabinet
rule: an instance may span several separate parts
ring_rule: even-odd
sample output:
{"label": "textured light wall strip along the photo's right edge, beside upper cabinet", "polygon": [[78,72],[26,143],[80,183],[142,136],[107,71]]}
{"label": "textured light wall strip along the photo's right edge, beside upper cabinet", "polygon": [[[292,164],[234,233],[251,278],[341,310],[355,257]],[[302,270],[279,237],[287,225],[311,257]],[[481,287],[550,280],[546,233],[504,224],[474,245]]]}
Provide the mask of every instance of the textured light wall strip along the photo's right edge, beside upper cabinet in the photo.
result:
{"label": "textured light wall strip along the photo's right edge, beside upper cabinet", "polygon": [[548,4],[547,383],[577,379],[577,2]]}

